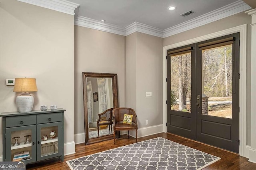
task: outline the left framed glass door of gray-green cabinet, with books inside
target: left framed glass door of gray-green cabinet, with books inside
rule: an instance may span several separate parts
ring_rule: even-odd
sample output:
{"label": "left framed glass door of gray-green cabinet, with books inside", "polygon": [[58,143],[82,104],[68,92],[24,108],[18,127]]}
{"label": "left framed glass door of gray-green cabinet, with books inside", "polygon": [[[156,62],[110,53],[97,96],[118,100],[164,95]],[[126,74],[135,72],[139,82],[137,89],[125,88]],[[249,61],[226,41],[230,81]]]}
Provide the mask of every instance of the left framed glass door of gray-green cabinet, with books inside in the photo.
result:
{"label": "left framed glass door of gray-green cabinet, with books inside", "polygon": [[6,128],[6,161],[36,161],[36,125]]}

